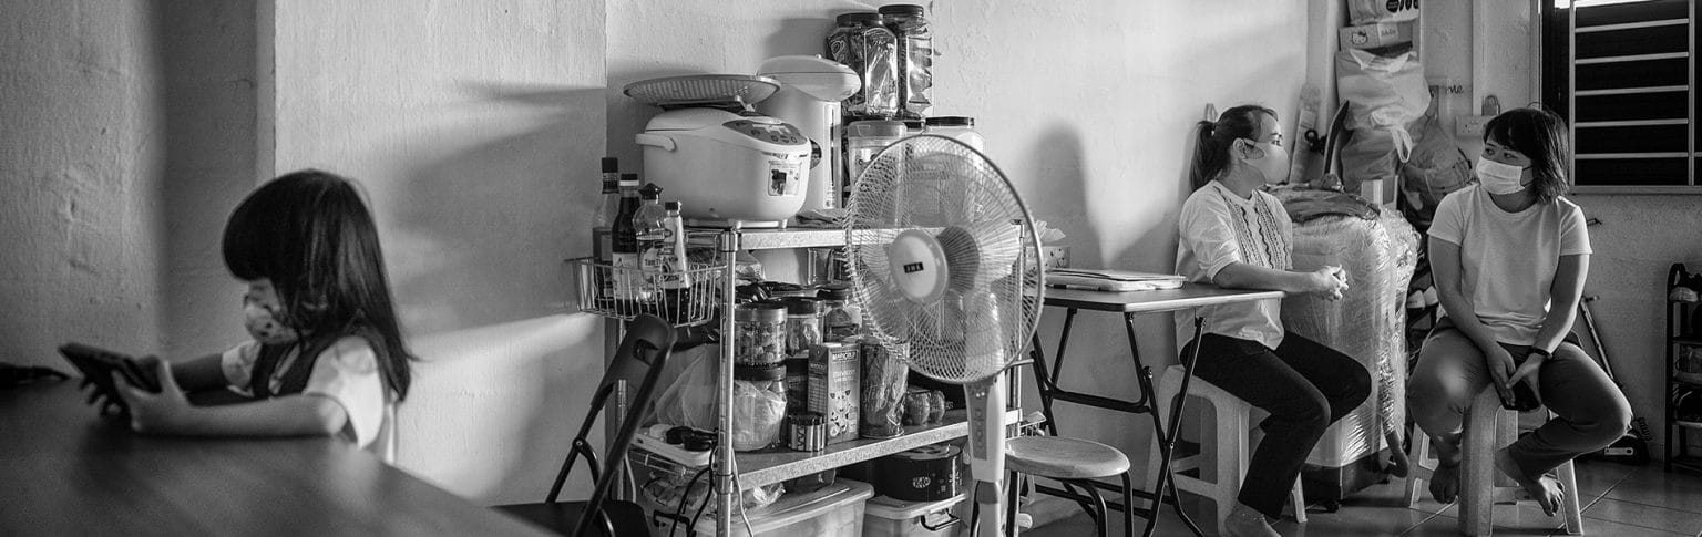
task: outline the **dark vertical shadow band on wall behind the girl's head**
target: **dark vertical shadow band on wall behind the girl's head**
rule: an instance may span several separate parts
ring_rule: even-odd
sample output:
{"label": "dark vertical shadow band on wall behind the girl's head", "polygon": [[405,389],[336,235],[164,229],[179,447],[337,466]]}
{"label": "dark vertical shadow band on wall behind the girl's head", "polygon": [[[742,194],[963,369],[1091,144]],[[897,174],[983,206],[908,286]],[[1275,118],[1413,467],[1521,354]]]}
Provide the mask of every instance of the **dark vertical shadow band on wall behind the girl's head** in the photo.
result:
{"label": "dark vertical shadow band on wall behind the girl's head", "polygon": [[150,5],[167,178],[150,192],[165,233],[158,352],[191,357],[243,336],[220,248],[226,216],[257,185],[255,2]]}

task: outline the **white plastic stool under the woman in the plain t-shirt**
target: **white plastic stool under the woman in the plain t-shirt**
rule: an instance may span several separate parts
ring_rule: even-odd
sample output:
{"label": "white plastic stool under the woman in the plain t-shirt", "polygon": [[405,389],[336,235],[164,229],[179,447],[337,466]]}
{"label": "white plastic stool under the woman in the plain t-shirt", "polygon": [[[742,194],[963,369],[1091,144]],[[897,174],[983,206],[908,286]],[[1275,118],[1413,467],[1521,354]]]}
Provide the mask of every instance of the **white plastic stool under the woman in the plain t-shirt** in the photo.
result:
{"label": "white plastic stool under the woman in the plain t-shirt", "polygon": [[[1488,410],[1488,411],[1481,411]],[[1408,459],[1413,461],[1411,474],[1406,478],[1406,505],[1418,505],[1425,481],[1435,474],[1436,459],[1430,457],[1430,437],[1416,425],[1413,427],[1413,445],[1408,447]],[[1494,387],[1486,387],[1472,399],[1465,410],[1465,427],[1460,438],[1460,534],[1489,535],[1494,530],[1494,505],[1513,501],[1534,501],[1518,498],[1523,491],[1513,478],[1494,469],[1496,449],[1518,440],[1518,413],[1501,408],[1501,396]],[[1578,474],[1573,461],[1556,467],[1564,493],[1561,495],[1561,513],[1566,515],[1566,534],[1581,535],[1583,506],[1578,503]],[[1518,517],[1518,512],[1513,512]],[[1518,518],[1511,520],[1518,523]]]}

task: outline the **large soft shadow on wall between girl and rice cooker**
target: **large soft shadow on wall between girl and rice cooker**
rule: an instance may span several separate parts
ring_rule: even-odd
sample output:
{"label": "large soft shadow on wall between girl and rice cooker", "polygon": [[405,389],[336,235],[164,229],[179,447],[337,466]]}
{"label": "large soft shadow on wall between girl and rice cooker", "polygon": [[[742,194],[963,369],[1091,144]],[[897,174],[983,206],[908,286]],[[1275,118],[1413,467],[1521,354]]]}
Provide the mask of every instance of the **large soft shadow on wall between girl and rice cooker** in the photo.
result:
{"label": "large soft shadow on wall between girl and rice cooker", "polygon": [[572,311],[562,260],[591,255],[596,160],[577,168],[568,161],[574,138],[585,131],[575,117],[587,114],[575,107],[601,105],[603,90],[480,85],[470,92],[480,105],[523,107],[507,122],[524,127],[422,155],[403,172],[402,192],[391,194],[398,235],[397,246],[385,246],[397,260],[393,287],[414,333]]}

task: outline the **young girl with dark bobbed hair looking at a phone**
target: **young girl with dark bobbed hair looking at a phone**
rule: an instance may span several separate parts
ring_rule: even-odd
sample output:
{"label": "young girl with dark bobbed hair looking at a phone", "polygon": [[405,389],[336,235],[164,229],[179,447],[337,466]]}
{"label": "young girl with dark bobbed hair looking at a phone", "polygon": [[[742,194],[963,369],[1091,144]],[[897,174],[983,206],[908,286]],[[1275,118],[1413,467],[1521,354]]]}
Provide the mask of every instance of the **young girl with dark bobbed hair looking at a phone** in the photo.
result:
{"label": "young girl with dark bobbed hair looking at a phone", "polygon": [[[337,435],[374,442],[408,393],[408,355],[378,231],[354,185],[305,170],[267,182],[225,224],[225,267],[248,285],[254,340],[180,364],[158,360],[160,393],[129,384],[131,428],[162,435]],[[192,406],[180,389],[235,387],[250,403]]]}

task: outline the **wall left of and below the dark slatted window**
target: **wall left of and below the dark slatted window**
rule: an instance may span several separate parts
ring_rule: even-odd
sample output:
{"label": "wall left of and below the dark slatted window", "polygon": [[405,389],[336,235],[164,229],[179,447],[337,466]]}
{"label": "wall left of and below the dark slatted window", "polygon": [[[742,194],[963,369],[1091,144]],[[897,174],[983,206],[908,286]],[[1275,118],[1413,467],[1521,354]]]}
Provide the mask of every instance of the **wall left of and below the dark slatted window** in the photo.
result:
{"label": "wall left of and below the dark slatted window", "polygon": [[[1472,31],[1472,10],[1482,8],[1481,32]],[[1471,97],[1457,97],[1457,114],[1477,114],[1477,99],[1496,95],[1501,109],[1525,105],[1537,99],[1530,58],[1530,32],[1535,31],[1528,2],[1430,2],[1431,61],[1426,73],[1457,76],[1472,85]],[[1472,37],[1481,36],[1481,49]],[[1476,70],[1472,58],[1481,58]],[[1481,80],[1472,80],[1477,73]],[[1481,139],[1460,138],[1465,155],[1482,151]],[[1656,457],[1665,455],[1661,427],[1666,396],[1666,270],[1683,262],[1692,272],[1702,268],[1702,199],[1697,195],[1573,194],[1585,216],[1600,219],[1590,228],[1590,282],[1596,330],[1607,347],[1613,372],[1625,384],[1625,396],[1637,416],[1648,418],[1656,437]],[[1585,347],[1591,348],[1588,333]]]}

